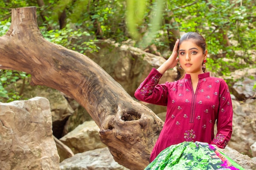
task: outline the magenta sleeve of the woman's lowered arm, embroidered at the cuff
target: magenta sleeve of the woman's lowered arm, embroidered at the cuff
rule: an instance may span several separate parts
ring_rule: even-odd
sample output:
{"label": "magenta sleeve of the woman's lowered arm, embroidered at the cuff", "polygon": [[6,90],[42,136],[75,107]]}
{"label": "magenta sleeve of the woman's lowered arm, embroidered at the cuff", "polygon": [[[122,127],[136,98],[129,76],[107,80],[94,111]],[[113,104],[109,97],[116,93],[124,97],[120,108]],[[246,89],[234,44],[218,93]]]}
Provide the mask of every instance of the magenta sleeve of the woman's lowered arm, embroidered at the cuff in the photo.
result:
{"label": "magenta sleeve of the woman's lowered arm, embroidered at the cuff", "polygon": [[223,80],[220,82],[219,108],[217,117],[217,134],[211,144],[225,148],[232,134],[233,108],[229,88]]}

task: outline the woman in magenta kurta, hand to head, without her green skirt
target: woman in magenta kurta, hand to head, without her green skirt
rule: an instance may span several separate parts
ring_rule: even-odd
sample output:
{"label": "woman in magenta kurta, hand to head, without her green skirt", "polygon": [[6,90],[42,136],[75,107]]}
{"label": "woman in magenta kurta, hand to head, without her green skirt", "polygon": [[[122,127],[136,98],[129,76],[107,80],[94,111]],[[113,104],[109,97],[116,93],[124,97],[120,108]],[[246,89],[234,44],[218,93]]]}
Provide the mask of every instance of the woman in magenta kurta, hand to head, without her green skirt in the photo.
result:
{"label": "woman in magenta kurta, hand to head, without her green skirt", "polygon": [[[177,57],[178,56],[178,57]],[[151,104],[167,106],[166,121],[150,156],[150,162],[171,145],[205,142],[225,148],[232,133],[232,102],[223,79],[210,77],[205,70],[206,42],[189,32],[177,40],[173,53],[159,68],[153,68],[135,91],[135,97]],[[169,68],[180,61],[184,75],[175,82],[158,84]],[[214,124],[217,120],[217,134]]]}

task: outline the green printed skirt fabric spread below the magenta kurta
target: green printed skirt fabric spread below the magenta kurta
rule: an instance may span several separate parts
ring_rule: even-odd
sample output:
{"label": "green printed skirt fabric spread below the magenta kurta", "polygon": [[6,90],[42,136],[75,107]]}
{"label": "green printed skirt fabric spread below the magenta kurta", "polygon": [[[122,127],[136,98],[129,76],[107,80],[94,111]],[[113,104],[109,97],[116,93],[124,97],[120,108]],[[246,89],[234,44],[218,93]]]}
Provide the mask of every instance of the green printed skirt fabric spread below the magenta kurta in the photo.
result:
{"label": "green printed skirt fabric spread below the magenta kurta", "polygon": [[244,170],[213,146],[182,142],[162,152],[144,170]]}

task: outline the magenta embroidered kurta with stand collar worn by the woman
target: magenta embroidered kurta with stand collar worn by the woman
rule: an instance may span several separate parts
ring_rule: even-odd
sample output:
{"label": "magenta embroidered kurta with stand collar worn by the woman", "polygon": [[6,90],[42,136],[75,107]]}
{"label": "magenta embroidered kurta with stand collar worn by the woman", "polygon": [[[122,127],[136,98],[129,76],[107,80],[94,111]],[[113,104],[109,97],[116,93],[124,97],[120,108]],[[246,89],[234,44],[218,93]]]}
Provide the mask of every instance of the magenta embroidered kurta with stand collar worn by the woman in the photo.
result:
{"label": "magenta embroidered kurta with stand collar worn by the woman", "polygon": [[[186,74],[175,82],[158,84],[162,74],[153,68],[135,91],[135,97],[151,104],[167,106],[166,121],[150,156],[150,162],[165,148],[183,141],[200,141],[225,148],[232,133],[233,109],[227,83],[210,73],[198,75],[193,92]],[[217,119],[217,134],[214,123]]]}

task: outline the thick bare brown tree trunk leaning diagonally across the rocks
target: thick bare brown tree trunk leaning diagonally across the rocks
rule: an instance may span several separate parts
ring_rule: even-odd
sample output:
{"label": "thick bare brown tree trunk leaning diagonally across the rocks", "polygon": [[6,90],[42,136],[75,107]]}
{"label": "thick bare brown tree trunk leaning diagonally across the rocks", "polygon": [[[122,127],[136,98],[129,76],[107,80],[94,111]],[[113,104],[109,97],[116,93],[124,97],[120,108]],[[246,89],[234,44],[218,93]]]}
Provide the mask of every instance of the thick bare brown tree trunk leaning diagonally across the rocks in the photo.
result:
{"label": "thick bare brown tree trunk leaning diagonally across the rocks", "polygon": [[100,127],[115,161],[131,170],[148,165],[163,121],[87,56],[45,40],[36,7],[12,9],[0,54],[0,69],[29,73],[32,85],[54,88],[79,102]]}

